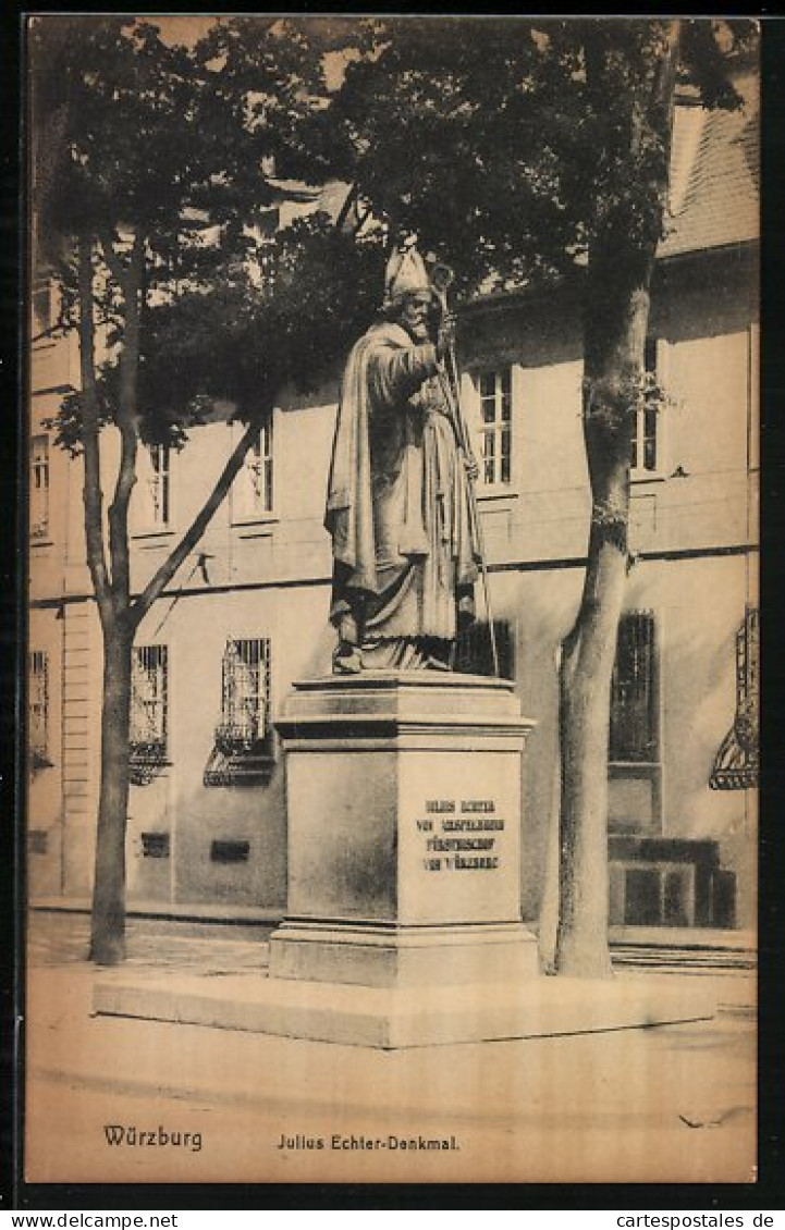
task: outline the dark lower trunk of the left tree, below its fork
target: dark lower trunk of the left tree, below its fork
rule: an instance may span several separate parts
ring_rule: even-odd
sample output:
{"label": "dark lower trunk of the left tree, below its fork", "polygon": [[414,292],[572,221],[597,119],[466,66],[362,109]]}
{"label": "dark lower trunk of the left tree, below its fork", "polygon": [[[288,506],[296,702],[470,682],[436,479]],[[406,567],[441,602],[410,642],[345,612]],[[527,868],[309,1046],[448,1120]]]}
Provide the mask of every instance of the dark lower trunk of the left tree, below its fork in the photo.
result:
{"label": "dark lower trunk of the left tree, below its fork", "polygon": [[90,959],[100,966],[116,966],[126,956],[126,827],[130,774],[133,633],[116,616],[102,620],[102,629],[101,792]]}

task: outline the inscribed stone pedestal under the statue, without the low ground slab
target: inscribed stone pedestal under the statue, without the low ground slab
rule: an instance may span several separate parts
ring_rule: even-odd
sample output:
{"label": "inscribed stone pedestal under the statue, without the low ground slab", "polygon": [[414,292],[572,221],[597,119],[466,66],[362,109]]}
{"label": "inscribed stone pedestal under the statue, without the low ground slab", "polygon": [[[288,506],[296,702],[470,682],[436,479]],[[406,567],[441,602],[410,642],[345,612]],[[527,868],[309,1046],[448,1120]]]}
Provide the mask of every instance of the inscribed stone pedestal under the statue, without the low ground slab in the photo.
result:
{"label": "inscribed stone pedestal under the statue, without the low ground slab", "polygon": [[277,726],[289,905],[271,937],[272,978],[469,988],[536,973],[519,910],[533,723],[511,683],[416,672],[306,680]]}

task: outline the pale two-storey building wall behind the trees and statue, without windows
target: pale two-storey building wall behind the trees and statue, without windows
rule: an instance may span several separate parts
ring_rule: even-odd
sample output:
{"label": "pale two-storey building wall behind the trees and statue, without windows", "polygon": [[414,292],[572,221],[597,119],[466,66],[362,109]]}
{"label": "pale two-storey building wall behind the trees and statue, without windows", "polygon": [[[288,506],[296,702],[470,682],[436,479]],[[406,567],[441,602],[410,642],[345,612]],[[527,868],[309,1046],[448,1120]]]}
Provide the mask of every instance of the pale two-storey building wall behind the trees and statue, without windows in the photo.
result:
{"label": "pale two-storey building wall behind the trees and statue, without windows", "polygon": [[[661,656],[662,788],[656,817],[673,836],[712,838],[736,870],[739,921],[754,913],[754,798],[709,788],[714,755],[736,701],[735,635],[755,601],[755,304],[752,267],[739,253],[674,262],[658,279],[652,332],[664,343],[656,475],[632,486],[625,605],[655,613]],[[536,721],[527,752],[522,902],[538,916],[556,790],[559,642],[580,601],[591,499],[581,429],[581,330],[575,295],[486,309],[461,355],[468,416],[476,426],[472,374],[511,363],[513,466],[509,485],[482,491],[493,614],[513,627],[524,711]],[[47,362],[52,362],[47,359]],[[266,785],[205,787],[220,717],[228,637],[266,637],[273,710],[305,674],[329,669],[331,557],[322,526],[335,386],[282,399],[273,419],[274,482],[268,513],[239,514],[230,497],[166,594],[138,645],[166,645],[169,764],[132,788],[129,898],[180,904],[285,905],[285,808],[281,761]],[[34,399],[38,422],[57,391]],[[171,460],[172,515],[145,520],[145,476],[134,494],[133,584],[140,588],[201,506],[236,440],[225,421],[193,433]],[[107,488],[116,442],[105,444]],[[63,706],[59,763],[31,786],[31,825],[59,824],[46,855],[31,856],[34,893],[90,889],[100,756],[100,630],[84,562],[80,462],[52,451],[53,536],[32,547],[33,641],[59,654]],[[479,599],[481,606],[481,600]],[[55,696],[52,695],[53,711]],[[59,711],[59,701],[57,704]],[[58,720],[59,721],[59,720]],[[629,784],[612,781],[612,823],[621,823]],[[621,820],[620,820],[621,818]],[[329,815],[325,817],[329,823]],[[165,833],[170,855],[144,854],[143,834]],[[249,859],[210,857],[215,840],[247,841]]]}

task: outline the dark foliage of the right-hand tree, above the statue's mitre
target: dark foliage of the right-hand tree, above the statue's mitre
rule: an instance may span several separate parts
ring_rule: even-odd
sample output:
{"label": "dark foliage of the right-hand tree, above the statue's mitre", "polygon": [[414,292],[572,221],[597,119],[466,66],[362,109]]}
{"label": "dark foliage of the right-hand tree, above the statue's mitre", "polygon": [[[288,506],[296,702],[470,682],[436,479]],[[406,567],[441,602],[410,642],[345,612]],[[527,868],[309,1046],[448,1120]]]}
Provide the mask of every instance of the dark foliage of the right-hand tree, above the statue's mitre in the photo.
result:
{"label": "dark foliage of the right-hand tree, above the statue's mitre", "polygon": [[[737,106],[728,57],[751,26],[683,25],[683,79]],[[332,165],[465,290],[564,274],[620,213],[631,242],[659,237],[667,21],[386,18],[362,33],[319,117]]]}

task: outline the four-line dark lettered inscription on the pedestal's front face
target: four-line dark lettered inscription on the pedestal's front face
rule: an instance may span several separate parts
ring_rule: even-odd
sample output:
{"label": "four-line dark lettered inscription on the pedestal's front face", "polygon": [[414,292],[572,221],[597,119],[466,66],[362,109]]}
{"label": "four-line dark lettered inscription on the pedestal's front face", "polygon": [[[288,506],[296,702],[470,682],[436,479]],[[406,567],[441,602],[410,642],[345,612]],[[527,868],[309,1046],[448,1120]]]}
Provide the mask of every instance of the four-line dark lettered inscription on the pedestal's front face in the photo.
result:
{"label": "four-line dark lettered inscription on the pedestal's front face", "polygon": [[424,840],[426,871],[496,871],[497,836],[504,820],[492,798],[428,798],[417,820]]}

